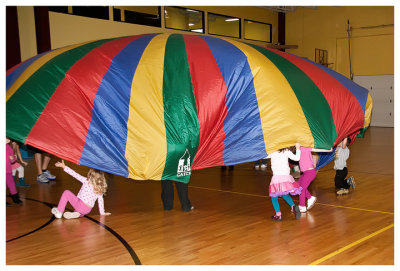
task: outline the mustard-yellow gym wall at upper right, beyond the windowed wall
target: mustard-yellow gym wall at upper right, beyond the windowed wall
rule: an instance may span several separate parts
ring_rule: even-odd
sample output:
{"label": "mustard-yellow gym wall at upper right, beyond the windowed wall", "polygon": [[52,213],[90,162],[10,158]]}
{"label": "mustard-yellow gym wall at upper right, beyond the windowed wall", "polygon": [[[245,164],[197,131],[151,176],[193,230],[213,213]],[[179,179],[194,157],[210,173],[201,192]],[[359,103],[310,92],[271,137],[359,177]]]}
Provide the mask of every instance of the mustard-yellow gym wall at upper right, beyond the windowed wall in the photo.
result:
{"label": "mustard-yellow gym wall at upper right, beyond the windowed wall", "polygon": [[290,53],[314,61],[315,48],[328,50],[328,62],[350,76],[347,20],[351,30],[353,75],[394,74],[394,8],[298,7],[286,14],[286,44],[298,45]]}

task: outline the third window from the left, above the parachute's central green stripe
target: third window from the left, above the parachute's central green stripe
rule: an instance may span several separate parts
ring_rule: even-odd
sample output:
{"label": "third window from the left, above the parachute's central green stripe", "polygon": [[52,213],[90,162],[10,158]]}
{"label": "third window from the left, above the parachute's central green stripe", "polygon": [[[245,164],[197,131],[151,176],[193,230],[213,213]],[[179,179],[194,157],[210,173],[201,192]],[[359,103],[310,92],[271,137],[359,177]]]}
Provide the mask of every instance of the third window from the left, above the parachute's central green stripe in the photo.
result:
{"label": "third window from the left, above the parachute's central green stripe", "polygon": [[204,33],[204,12],[189,8],[165,7],[165,28]]}

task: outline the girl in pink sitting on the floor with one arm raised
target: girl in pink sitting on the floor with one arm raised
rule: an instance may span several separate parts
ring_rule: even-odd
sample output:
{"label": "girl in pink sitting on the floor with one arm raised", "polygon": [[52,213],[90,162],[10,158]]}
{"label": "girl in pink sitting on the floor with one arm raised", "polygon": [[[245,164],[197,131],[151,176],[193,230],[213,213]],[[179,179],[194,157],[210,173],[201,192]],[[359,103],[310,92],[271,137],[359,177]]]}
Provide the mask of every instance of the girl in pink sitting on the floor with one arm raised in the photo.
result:
{"label": "girl in pink sitting on the floor with one arm raised", "polygon": [[104,172],[89,169],[87,178],[79,175],[69,167],[64,164],[64,160],[56,163],[56,167],[61,167],[67,172],[69,175],[83,183],[81,190],[79,190],[78,196],[75,196],[71,191],[65,190],[61,196],[61,199],[58,203],[57,208],[51,209],[52,214],[61,218],[63,212],[65,210],[65,206],[69,202],[72,207],[74,207],[74,212],[65,212],[64,218],[78,218],[90,213],[92,208],[94,207],[94,203],[97,200],[99,205],[99,211],[101,215],[111,215],[111,213],[104,212],[104,200],[103,195],[107,190],[107,182],[104,176]]}

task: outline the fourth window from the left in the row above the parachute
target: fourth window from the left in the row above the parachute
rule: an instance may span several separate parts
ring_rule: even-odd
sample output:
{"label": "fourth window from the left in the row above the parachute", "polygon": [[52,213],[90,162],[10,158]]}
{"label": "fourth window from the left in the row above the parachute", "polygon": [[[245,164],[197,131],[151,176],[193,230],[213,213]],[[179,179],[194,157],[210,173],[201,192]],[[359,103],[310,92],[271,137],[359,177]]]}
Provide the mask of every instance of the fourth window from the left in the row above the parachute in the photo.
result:
{"label": "fourth window from the left in the row above the parachute", "polygon": [[208,33],[240,38],[240,18],[208,13]]}

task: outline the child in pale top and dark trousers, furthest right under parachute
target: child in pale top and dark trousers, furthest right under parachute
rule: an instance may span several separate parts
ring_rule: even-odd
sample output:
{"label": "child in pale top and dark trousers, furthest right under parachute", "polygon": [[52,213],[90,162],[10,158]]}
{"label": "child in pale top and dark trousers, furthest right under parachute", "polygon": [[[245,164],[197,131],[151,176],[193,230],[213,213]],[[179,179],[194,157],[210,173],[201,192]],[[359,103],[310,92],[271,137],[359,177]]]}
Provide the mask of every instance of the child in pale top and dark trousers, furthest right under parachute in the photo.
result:
{"label": "child in pale top and dark trousers, furthest right under parachute", "polygon": [[354,182],[354,177],[350,176],[346,179],[347,176],[347,167],[346,160],[350,156],[350,150],[347,146],[350,145],[351,138],[347,137],[340,142],[335,151],[335,165],[334,169],[336,170],[335,175],[335,186],[339,190],[336,192],[338,195],[348,194],[350,186],[355,189],[356,183]]}

